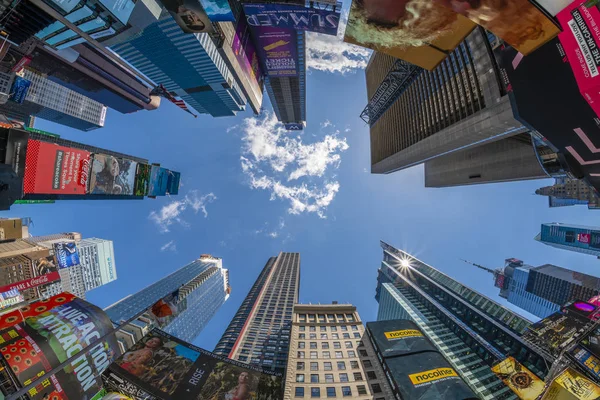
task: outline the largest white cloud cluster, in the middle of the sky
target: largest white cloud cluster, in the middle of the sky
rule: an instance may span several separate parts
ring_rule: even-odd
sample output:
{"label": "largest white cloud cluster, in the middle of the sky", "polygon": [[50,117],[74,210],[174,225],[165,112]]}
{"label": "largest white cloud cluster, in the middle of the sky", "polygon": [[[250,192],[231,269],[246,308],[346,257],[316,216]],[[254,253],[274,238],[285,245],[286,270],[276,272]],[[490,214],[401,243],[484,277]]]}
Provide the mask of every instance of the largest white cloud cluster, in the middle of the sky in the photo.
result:
{"label": "largest white cloud cluster, in the middle of the sky", "polygon": [[[326,121],[321,126],[329,127],[331,123]],[[320,141],[306,144],[301,136],[290,136],[269,113],[262,119],[245,119],[242,130],[241,164],[250,179],[250,187],[268,190],[271,200],[287,201],[291,214],[316,213],[325,218],[325,210],[340,184],[324,175],[329,167],[339,166],[340,153],[348,149],[339,131],[333,130]],[[301,181],[301,178],[310,178],[310,181]]]}

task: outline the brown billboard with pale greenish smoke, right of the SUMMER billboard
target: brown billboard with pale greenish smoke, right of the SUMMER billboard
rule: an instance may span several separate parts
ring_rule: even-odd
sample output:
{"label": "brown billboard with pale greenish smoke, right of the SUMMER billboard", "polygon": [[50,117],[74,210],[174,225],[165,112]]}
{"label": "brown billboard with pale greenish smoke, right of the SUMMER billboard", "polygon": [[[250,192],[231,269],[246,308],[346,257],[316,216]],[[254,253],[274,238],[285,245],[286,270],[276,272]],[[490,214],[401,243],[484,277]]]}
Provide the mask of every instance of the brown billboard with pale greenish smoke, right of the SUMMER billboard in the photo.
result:
{"label": "brown billboard with pale greenish smoke, right of the SUMMER billboard", "polygon": [[418,0],[385,4],[353,0],[344,41],[432,70],[476,27],[441,4]]}

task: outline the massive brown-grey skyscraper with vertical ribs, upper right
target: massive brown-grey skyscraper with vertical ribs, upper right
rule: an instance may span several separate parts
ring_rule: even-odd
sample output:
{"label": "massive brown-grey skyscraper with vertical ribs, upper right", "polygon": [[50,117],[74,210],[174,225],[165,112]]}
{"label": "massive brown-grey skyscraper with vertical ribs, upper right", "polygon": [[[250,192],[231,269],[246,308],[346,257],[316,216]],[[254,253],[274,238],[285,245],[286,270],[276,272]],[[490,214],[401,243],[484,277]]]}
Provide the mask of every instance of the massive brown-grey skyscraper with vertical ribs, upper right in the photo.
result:
{"label": "massive brown-grey skyscraper with vertical ribs, upper right", "polygon": [[374,52],[366,78],[372,173],[425,163],[431,187],[548,176],[539,145],[513,117],[483,30],[433,71]]}

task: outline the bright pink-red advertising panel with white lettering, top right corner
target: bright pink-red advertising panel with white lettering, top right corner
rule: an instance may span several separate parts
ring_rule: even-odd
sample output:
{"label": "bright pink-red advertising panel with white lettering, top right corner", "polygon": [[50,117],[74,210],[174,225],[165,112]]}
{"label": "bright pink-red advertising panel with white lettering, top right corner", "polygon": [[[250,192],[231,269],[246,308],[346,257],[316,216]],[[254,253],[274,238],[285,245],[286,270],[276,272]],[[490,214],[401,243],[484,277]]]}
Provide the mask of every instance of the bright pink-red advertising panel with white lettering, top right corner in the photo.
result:
{"label": "bright pink-red advertising panel with white lettering, top right corner", "polygon": [[569,57],[581,94],[600,116],[600,11],[585,3],[575,0],[556,15],[563,28],[558,39]]}

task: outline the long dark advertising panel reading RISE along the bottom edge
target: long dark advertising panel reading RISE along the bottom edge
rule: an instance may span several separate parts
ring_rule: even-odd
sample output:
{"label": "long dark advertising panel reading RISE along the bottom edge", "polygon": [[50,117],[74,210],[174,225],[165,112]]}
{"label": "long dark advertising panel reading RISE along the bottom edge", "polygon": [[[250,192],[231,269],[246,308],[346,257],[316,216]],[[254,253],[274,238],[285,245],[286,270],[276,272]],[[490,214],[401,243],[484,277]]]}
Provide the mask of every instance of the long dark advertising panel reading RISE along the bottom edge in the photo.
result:
{"label": "long dark advertising panel reading RISE along the bottom edge", "polygon": [[107,390],[149,400],[283,398],[281,374],[217,356],[159,329],[112,363],[103,380]]}

